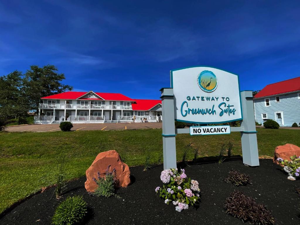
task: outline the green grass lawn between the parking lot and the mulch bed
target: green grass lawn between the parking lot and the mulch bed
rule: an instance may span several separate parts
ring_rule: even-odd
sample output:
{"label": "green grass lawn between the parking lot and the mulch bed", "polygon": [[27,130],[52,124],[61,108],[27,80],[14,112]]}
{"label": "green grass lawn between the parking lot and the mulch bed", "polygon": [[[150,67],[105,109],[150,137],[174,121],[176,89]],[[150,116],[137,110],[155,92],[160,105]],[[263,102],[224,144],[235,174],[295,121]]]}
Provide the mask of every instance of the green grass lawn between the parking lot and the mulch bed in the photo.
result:
{"label": "green grass lawn between the parking lot and the mulch bed", "polygon": [[[259,155],[273,156],[278,145],[292,143],[300,146],[299,131],[257,128]],[[223,142],[231,140],[232,155],[241,155],[239,132],[230,135],[176,137],[177,160],[182,159],[184,147],[192,142],[199,147],[199,157],[217,156]],[[162,152],[161,129],[126,131],[74,132],[0,132],[0,212],[41,187],[54,184],[56,161],[67,156],[66,179],[85,175],[99,152],[116,150],[129,166],[143,165],[146,153],[157,163]],[[193,158],[190,151],[188,159]]]}

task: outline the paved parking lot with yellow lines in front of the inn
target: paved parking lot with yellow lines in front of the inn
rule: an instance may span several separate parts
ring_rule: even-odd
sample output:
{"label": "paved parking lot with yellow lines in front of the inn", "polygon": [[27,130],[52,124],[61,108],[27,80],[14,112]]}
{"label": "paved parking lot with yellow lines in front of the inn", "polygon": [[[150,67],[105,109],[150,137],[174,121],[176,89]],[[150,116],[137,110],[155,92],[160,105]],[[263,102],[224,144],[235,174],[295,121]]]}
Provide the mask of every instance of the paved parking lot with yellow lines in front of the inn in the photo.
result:
{"label": "paved parking lot with yellow lines in front of the inn", "polygon": [[[162,123],[88,123],[73,124],[72,131],[107,131],[162,128]],[[9,132],[54,132],[60,131],[59,124],[33,124],[7,127]]]}

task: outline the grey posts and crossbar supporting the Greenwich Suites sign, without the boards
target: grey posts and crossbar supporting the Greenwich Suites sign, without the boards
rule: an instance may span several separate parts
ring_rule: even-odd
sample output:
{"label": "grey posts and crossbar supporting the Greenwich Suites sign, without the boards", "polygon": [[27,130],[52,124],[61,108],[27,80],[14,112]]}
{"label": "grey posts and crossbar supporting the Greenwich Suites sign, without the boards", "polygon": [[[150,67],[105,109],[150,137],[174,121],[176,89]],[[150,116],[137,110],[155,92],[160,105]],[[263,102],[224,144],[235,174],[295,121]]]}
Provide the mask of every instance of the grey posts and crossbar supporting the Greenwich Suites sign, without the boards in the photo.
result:
{"label": "grey posts and crossbar supporting the Greenwich Suites sign, without the boards", "polygon": [[[190,129],[175,129],[175,105],[173,88],[161,89],[164,170],[176,168],[176,134],[188,134]],[[258,148],[255,130],[252,91],[241,91],[243,120],[241,127],[232,127],[231,131],[241,132],[243,163],[248,166],[259,166]],[[200,137],[199,137],[200,138]]]}

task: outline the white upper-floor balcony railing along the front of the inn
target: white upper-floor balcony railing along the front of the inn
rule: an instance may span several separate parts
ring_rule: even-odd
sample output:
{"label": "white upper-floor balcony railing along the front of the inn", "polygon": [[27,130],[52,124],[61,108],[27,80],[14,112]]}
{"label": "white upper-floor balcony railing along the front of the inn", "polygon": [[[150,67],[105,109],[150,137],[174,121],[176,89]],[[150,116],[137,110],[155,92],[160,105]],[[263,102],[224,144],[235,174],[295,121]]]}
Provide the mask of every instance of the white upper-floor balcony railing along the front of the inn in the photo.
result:
{"label": "white upper-floor balcony railing along the front of the inn", "polygon": [[39,104],[40,109],[118,109],[131,110],[131,105],[93,105],[93,104]]}

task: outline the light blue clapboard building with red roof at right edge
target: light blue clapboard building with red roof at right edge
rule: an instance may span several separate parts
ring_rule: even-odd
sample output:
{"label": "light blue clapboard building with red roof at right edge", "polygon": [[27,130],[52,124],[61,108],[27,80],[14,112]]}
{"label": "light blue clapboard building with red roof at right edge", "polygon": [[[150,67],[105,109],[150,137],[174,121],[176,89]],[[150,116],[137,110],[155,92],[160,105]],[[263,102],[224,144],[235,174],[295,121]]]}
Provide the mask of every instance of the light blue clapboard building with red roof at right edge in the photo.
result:
{"label": "light blue clapboard building with red roof at right edge", "polygon": [[300,123],[300,77],[265,86],[253,99],[255,120],[275,120],[281,127]]}

